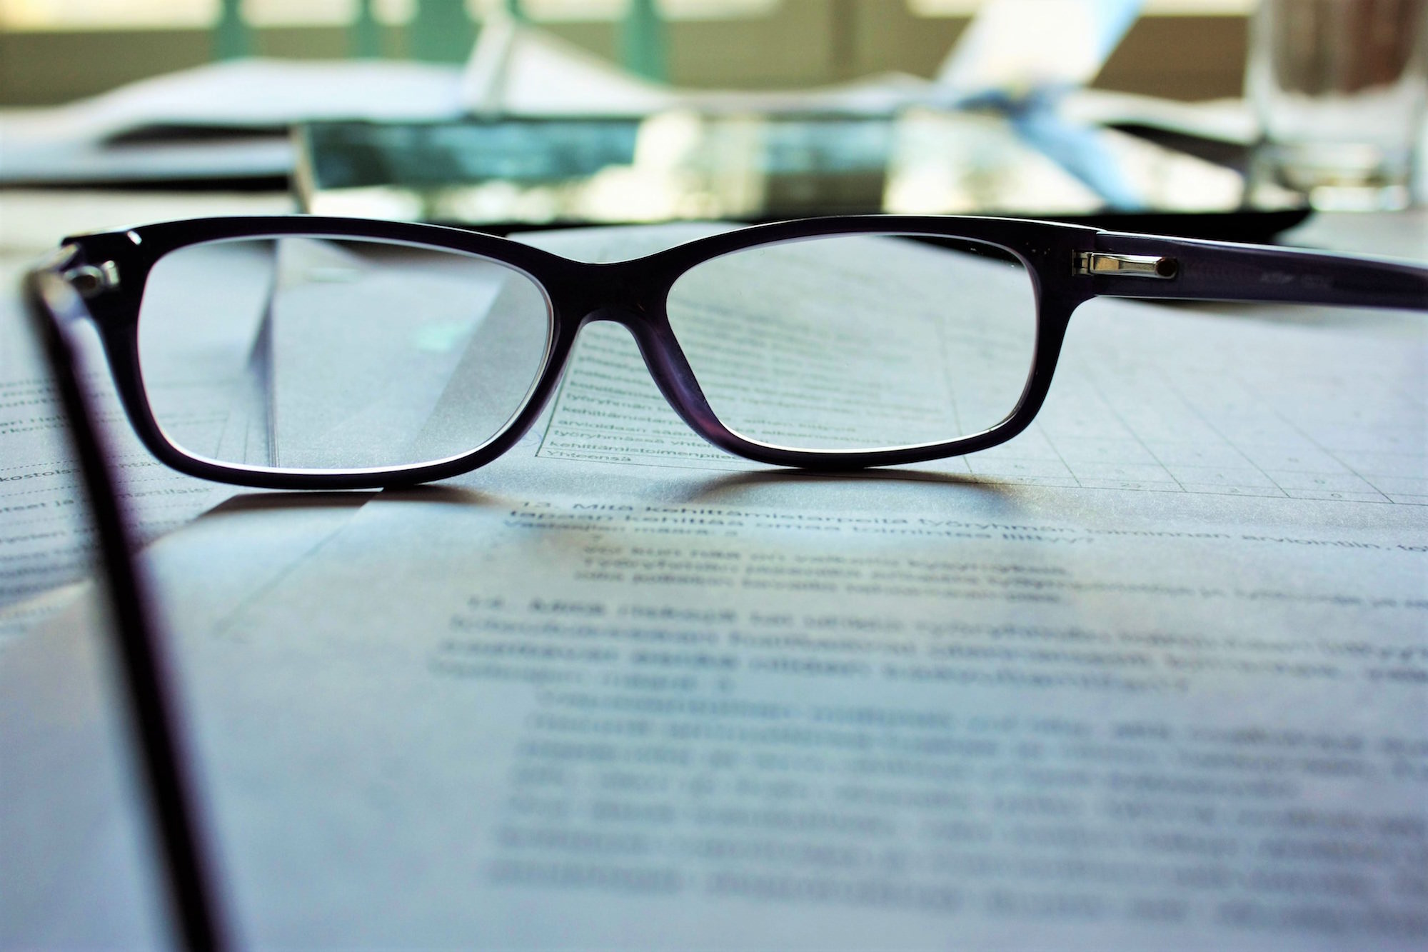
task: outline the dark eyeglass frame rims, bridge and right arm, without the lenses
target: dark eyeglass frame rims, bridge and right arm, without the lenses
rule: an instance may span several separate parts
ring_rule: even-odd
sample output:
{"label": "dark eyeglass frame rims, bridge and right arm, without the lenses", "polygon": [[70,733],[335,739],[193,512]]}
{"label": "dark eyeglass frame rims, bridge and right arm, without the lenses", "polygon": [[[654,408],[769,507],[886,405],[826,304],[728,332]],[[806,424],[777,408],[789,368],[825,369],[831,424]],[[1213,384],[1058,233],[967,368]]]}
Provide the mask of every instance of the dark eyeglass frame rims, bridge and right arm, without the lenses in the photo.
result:
{"label": "dark eyeglass frame rims, bridge and right arm, without the lenses", "polygon": [[[970,242],[1014,256],[1037,302],[1032,366],[1017,406],[992,427],[958,439],[877,450],[800,450],[750,440],[710,407],[670,327],[670,289],[711,259],[764,244],[833,236],[900,236]],[[524,405],[491,439],[443,460],[381,469],[286,470],[218,463],[184,452],[160,429],[144,395],[139,320],[144,286],[166,254],[193,244],[261,237],[391,242],[474,254],[513,267],[540,286],[551,332]],[[64,240],[50,269],[84,299],[104,344],[124,410],[144,446],[170,467],[261,489],[380,489],[447,479],[484,466],[536,423],[570,360],[580,329],[594,320],[634,336],[660,392],[705,440],[761,463],[817,470],[917,463],[1004,443],[1031,425],[1051,387],[1072,312],[1094,297],[1241,300],[1428,310],[1428,269],[1284,247],[1174,239],[1087,226],[994,217],[844,216],[780,222],[697,239],[645,257],[585,263],[490,234],[434,224],[320,216],[253,216],[166,222]],[[56,316],[57,317],[57,316]]]}

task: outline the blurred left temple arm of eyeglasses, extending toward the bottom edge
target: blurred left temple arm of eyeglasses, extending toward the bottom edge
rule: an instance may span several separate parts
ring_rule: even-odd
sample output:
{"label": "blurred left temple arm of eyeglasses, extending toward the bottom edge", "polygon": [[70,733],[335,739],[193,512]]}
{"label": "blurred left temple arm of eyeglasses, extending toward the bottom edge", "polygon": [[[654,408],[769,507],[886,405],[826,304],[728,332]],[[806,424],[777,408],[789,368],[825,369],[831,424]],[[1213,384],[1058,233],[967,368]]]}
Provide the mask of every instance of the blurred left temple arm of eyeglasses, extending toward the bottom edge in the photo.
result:
{"label": "blurred left temple arm of eyeglasses, extending toward the bottom edge", "polygon": [[107,589],[117,635],[119,663],[139,740],[140,770],[149,788],[150,819],[159,836],[176,939],[188,949],[226,949],[218,919],[216,869],[198,835],[194,780],[180,750],[173,679],[164,663],[149,599],[130,552],[124,513],[103,437],[89,397],[80,387],[74,347],[66,324],[83,314],[79,296],[60,269],[74,249],[61,249],[47,267],[31,270],[21,289],[26,313],[44,347],[100,546],[99,572]]}

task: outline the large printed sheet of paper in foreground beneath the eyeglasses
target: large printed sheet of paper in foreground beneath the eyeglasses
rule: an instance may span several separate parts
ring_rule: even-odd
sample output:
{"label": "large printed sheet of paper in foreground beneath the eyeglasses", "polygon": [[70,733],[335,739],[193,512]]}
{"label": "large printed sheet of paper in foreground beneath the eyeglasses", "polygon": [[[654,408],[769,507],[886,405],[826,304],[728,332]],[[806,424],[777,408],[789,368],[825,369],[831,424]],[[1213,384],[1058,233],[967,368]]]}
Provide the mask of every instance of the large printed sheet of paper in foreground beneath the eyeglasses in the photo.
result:
{"label": "large printed sheet of paper in foreground beneath the eyeglasses", "polygon": [[[691,456],[621,333],[281,573],[153,549],[244,938],[1421,948],[1419,317],[1098,302],[1034,430],[853,476]],[[593,357],[655,437],[553,452]]]}

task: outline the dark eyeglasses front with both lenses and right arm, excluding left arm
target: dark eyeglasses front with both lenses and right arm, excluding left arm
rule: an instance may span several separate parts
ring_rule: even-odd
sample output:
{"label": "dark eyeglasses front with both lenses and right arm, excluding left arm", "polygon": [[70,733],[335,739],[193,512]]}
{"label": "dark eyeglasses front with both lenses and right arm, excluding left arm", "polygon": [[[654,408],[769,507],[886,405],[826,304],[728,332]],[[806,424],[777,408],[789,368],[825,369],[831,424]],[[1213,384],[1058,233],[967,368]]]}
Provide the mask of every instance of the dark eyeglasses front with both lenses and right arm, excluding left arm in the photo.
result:
{"label": "dark eyeglasses front with both lenses and right arm, excluding left arm", "polygon": [[[604,264],[428,224],[203,219],[69,239],[39,273],[83,300],[49,310],[94,320],[156,457],[267,489],[494,460],[598,320],[633,334],[714,446],[857,469],[1024,430],[1092,297],[1428,309],[1428,269],[1409,264],[980,217],[784,222]],[[618,356],[581,360],[568,412],[635,426]]]}

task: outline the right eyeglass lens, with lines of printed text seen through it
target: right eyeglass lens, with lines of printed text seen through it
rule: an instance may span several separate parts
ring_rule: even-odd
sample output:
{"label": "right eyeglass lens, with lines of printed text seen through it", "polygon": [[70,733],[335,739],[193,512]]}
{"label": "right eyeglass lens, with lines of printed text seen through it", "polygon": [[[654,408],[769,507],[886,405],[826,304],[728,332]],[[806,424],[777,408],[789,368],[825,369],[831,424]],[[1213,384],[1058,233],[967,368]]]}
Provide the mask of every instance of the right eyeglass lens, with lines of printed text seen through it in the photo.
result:
{"label": "right eyeglass lens, with lines of printed text seen through it", "polygon": [[670,326],[710,407],[804,450],[942,443],[1017,406],[1037,343],[1025,267],[990,244],[843,234],[685,272]]}

